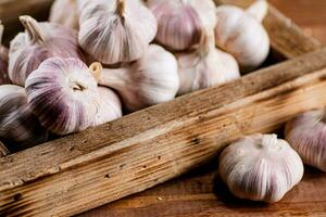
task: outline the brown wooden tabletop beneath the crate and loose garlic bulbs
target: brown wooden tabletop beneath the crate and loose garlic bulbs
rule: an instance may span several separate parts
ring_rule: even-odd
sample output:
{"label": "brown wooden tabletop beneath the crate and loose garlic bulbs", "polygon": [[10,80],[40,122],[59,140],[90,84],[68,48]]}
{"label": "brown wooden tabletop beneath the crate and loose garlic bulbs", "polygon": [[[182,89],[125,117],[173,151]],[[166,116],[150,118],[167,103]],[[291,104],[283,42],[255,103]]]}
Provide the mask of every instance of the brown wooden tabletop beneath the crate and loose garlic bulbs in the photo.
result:
{"label": "brown wooden tabletop beneath the crate and loose garlic bulbs", "polygon": [[[326,0],[269,0],[326,44]],[[233,197],[211,163],[178,179],[99,207],[79,217],[326,216],[326,175],[308,168],[303,181],[277,204]]]}

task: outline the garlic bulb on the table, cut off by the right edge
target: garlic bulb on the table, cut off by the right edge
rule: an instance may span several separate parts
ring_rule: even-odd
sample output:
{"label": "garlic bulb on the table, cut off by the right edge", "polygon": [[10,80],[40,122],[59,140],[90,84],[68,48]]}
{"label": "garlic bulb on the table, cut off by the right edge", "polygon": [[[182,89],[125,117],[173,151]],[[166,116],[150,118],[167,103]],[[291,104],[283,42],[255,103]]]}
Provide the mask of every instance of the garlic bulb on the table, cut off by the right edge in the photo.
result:
{"label": "garlic bulb on the table, cut off by the right edge", "polygon": [[313,110],[298,115],[286,125],[286,140],[303,163],[326,171],[326,112]]}

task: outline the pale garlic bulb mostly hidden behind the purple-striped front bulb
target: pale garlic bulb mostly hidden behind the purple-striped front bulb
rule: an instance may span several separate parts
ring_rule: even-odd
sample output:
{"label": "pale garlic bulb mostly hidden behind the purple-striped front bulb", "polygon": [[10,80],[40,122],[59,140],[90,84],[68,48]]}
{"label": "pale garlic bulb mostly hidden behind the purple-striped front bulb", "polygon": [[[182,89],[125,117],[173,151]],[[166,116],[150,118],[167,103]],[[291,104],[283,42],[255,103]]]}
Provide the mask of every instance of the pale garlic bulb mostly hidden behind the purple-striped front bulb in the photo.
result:
{"label": "pale garlic bulb mostly hidden behind the purple-striped front bulb", "polygon": [[93,125],[102,125],[122,117],[122,103],[118,95],[105,87],[99,87],[98,91],[101,97],[101,103]]}

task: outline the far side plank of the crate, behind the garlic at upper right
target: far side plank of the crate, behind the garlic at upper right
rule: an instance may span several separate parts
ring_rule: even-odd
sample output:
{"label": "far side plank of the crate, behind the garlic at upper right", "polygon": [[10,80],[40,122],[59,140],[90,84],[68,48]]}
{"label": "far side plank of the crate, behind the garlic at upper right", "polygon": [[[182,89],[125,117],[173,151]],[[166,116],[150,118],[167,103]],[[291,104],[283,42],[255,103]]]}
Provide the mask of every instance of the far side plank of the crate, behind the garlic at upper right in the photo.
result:
{"label": "far side plank of the crate, behind the garlic at upper right", "polygon": [[[217,4],[229,3],[246,8],[254,0],[215,0]],[[286,58],[291,59],[322,48],[319,41],[305,35],[288,17],[269,4],[268,15],[264,20],[272,48]]]}

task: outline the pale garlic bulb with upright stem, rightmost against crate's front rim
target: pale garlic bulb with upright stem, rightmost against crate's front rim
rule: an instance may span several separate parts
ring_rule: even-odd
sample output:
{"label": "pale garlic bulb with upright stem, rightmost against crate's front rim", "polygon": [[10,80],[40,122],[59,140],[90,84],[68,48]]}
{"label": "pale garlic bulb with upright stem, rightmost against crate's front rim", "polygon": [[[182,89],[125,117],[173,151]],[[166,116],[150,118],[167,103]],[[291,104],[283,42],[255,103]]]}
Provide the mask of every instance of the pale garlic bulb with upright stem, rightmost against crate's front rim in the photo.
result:
{"label": "pale garlic bulb with upright stem, rightmost against crate's front rim", "polygon": [[205,30],[198,50],[177,55],[180,87],[178,94],[209,88],[240,77],[237,61],[215,48],[214,33]]}

